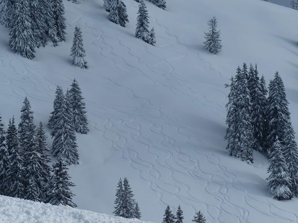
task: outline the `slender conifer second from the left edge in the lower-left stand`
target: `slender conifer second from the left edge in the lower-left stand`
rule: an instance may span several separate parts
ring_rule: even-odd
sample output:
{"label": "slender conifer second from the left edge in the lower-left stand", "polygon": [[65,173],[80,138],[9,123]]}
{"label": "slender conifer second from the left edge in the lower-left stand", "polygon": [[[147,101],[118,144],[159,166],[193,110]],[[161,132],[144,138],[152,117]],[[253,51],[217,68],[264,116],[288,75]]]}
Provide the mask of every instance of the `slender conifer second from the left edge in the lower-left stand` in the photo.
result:
{"label": "slender conifer second from the left edge in the lower-left stand", "polygon": [[25,168],[23,150],[20,148],[15,119],[9,121],[7,129],[7,146],[11,151],[11,163],[7,170],[6,182],[8,185],[7,196],[25,198]]}

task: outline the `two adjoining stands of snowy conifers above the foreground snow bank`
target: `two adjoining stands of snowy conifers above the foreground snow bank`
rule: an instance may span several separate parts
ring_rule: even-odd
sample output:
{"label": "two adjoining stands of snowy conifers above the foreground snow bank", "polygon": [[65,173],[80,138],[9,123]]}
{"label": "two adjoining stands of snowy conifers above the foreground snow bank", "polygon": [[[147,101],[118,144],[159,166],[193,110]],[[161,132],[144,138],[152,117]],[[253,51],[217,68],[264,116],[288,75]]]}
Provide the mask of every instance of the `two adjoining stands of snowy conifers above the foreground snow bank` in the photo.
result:
{"label": "two adjoining stands of snowy conifers above the foreground snow bank", "polygon": [[52,168],[43,124],[40,122],[38,127],[34,124],[34,112],[27,97],[20,110],[18,128],[13,116],[5,131],[0,117],[1,195],[76,207],[70,190],[75,185],[70,182],[67,165],[79,164],[75,131],[82,134],[89,131],[83,99],[75,79],[66,95],[57,87],[49,120],[54,138],[51,153],[57,157]]}

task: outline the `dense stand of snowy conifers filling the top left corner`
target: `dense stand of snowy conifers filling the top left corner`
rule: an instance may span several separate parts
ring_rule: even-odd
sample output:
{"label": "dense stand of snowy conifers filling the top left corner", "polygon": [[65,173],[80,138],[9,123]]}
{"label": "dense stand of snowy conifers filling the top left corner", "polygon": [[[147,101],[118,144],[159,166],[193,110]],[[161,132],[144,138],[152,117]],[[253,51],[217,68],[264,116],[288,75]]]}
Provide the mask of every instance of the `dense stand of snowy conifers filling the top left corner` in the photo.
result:
{"label": "dense stand of snowy conifers filling the top left corner", "polygon": [[62,0],[2,0],[1,23],[10,29],[9,46],[33,59],[35,48],[65,41],[65,11]]}

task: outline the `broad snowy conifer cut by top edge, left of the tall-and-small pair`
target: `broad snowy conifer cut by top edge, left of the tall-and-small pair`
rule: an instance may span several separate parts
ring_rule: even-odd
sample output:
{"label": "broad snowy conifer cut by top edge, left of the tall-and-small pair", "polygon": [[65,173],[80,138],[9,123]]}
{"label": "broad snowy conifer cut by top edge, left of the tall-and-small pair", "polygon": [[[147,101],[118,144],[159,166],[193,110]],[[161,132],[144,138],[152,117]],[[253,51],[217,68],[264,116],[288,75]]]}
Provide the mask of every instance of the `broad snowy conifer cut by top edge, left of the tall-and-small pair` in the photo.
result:
{"label": "broad snowy conifer cut by top edge, left of the tall-and-small pair", "polygon": [[112,0],[108,19],[123,27],[125,27],[126,22],[129,22],[126,13],[126,5],[122,0]]}

